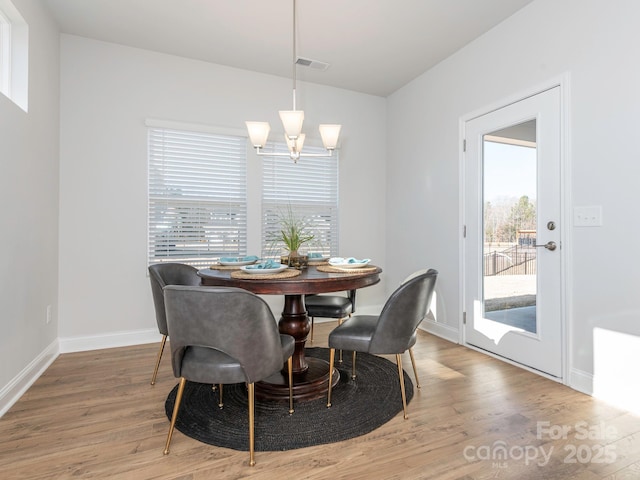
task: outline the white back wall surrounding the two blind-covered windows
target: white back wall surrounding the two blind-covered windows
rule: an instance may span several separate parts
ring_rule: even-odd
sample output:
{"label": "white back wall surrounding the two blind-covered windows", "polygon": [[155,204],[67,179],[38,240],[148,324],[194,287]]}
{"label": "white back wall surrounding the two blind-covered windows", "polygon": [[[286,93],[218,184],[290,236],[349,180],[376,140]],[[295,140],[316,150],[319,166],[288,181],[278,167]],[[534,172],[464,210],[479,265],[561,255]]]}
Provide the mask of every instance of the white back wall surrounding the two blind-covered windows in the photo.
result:
{"label": "white back wall surrounding the two blind-covered windows", "polygon": [[[242,133],[245,120],[267,120],[276,135],[277,112],[290,106],[287,78],[62,35],[63,350],[159,339],[146,264],[145,118]],[[299,84],[298,107],[305,110],[308,135],[321,121],[343,125],[341,254],[384,267],[385,99]],[[259,173],[252,152],[249,161]],[[250,182],[256,198],[255,177]],[[259,251],[259,219],[250,228],[249,247]],[[379,303],[383,293],[382,284],[363,289],[359,301]],[[274,308],[279,314],[281,307]]]}

